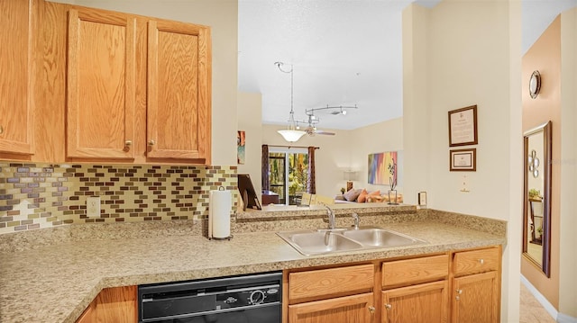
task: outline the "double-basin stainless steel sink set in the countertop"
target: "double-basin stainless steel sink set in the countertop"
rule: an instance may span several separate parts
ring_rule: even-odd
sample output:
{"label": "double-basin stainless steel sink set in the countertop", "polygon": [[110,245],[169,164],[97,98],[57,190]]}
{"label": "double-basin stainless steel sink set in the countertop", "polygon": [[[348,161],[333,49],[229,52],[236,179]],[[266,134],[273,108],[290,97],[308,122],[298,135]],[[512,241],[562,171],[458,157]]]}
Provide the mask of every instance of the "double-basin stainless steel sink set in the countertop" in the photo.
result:
{"label": "double-basin stainless steel sink set in the countertop", "polygon": [[374,227],[281,231],[277,235],[305,256],[427,243],[389,229]]}

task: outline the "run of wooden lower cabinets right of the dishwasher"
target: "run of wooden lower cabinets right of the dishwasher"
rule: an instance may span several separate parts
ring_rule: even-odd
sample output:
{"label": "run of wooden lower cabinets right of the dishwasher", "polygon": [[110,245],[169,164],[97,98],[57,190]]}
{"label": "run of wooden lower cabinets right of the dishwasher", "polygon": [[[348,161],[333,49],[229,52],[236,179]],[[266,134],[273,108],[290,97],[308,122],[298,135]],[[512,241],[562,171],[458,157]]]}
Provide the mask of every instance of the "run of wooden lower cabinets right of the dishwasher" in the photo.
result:
{"label": "run of wooden lower cabinets right of the dishwasher", "polygon": [[284,323],[498,323],[501,247],[285,272]]}

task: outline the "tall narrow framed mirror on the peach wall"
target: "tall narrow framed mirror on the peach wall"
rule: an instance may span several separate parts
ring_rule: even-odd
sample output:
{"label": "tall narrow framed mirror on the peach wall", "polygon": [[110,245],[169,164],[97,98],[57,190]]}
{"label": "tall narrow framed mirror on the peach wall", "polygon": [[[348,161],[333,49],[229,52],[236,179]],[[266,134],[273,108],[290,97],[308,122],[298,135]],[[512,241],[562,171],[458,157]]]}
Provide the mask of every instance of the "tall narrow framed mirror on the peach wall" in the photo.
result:
{"label": "tall narrow framed mirror on the peach wall", "polygon": [[524,133],[523,256],[550,277],[551,121]]}

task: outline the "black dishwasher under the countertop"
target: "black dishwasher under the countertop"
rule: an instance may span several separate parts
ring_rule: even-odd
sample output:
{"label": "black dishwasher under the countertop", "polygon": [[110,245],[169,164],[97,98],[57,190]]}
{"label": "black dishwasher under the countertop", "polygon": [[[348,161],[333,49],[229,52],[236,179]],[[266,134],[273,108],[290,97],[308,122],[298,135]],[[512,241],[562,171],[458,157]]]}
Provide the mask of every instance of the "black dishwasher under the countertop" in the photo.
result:
{"label": "black dishwasher under the countertop", "polygon": [[282,273],[138,286],[141,323],[279,323]]}

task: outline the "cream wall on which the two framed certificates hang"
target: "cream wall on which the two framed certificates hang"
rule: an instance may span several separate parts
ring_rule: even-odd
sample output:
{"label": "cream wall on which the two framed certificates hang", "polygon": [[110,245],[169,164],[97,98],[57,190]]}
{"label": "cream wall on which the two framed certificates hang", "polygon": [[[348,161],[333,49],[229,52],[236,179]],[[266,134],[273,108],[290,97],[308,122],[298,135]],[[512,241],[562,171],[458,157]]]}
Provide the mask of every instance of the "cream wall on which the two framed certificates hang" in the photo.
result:
{"label": "cream wall on which the two framed certificates hang", "polygon": [[[520,3],[444,1],[403,13],[405,192],[428,206],[508,220],[501,321],[518,321],[522,192]],[[490,23],[488,23],[490,22]],[[478,106],[476,172],[449,171],[447,112]],[[469,193],[462,193],[467,175]],[[418,187],[418,188],[417,188]]]}

